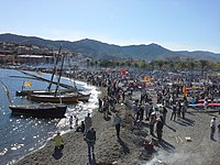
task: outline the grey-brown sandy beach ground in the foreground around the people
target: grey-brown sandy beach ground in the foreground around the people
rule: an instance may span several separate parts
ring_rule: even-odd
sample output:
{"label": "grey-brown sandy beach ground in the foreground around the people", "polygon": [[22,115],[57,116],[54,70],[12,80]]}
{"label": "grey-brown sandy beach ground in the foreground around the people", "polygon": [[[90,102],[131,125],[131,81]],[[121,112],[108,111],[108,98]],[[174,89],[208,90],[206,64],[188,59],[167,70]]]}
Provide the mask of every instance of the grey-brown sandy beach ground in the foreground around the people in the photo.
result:
{"label": "grey-brown sandy beach ground in the foreground around the people", "polygon": [[[106,92],[101,88],[102,94]],[[135,92],[133,99],[139,98]],[[154,96],[153,96],[154,97]],[[129,101],[128,101],[129,102]],[[219,165],[220,143],[217,132],[212,141],[210,136],[211,117],[217,118],[219,113],[205,113],[194,109],[188,109],[186,119],[170,121],[170,109],[167,113],[167,123],[163,130],[163,142],[155,146],[156,153],[152,156],[144,154],[142,146],[144,140],[150,140],[147,121],[141,128],[132,124],[131,108],[125,103],[118,103],[116,110],[123,119],[121,128],[121,139],[117,139],[111,112],[109,120],[103,119],[103,114],[94,110],[92,125],[97,131],[95,154],[89,157],[87,144],[80,132],[70,131],[63,134],[65,145],[61,155],[54,155],[54,142],[50,140],[47,144],[32,154],[23,157],[15,165],[144,165],[144,164],[168,164],[168,165]],[[191,141],[185,138],[189,136]]]}

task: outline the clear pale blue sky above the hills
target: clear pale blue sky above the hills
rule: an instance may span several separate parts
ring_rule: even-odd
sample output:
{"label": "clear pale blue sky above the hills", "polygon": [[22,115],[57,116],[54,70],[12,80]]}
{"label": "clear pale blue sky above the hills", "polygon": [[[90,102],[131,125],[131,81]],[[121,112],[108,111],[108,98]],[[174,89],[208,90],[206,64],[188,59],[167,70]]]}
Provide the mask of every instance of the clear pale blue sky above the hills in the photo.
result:
{"label": "clear pale blue sky above the hills", "polygon": [[0,0],[0,34],[220,53],[220,0]]}

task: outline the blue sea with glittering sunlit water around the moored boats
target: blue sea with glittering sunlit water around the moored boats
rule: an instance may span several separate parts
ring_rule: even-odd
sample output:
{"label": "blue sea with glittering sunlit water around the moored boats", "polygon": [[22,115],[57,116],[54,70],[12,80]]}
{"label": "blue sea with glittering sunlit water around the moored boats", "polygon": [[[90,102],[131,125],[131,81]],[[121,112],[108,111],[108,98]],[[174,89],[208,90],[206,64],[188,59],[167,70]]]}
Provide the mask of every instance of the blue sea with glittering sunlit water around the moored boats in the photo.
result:
{"label": "blue sea with glittering sunlit water around the moored boats", "polygon": [[[43,73],[41,77],[51,79],[51,74]],[[56,79],[57,77],[54,80]],[[25,87],[30,90],[45,90],[48,86],[48,82],[29,79],[26,75],[14,69],[0,69],[0,80],[8,87],[13,105],[35,103],[24,97],[15,96],[15,91],[21,90],[25,81],[31,82],[31,87]],[[91,92],[91,95],[88,102],[67,105],[66,118],[53,120],[11,116],[10,102],[0,84],[0,165],[11,165],[31,152],[43,147],[57,131],[62,134],[73,131],[74,129],[69,127],[70,116],[76,114],[80,123],[88,112],[92,114],[92,110],[98,108],[98,95],[100,92],[98,88],[65,77],[62,77],[61,82],[76,85],[78,89],[84,92]],[[53,85],[52,88],[55,89],[56,86]]]}

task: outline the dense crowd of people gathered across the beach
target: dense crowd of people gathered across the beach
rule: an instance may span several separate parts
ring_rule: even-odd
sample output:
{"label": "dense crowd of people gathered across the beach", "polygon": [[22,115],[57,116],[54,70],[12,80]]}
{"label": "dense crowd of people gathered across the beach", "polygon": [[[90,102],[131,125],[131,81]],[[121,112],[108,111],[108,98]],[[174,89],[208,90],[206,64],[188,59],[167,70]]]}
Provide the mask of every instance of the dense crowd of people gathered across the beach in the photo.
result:
{"label": "dense crowd of people gathered across the beach", "polygon": [[[152,78],[151,82],[144,81],[144,75],[136,73],[120,72],[81,72],[75,78],[85,80],[94,86],[103,87],[107,89],[106,96],[98,98],[99,112],[103,113],[103,119],[108,120],[109,113],[114,113],[113,123],[116,125],[116,135],[120,138],[120,127],[122,119],[117,111],[117,103],[124,103],[127,100],[132,100],[131,114],[133,125],[142,127],[143,122],[148,123],[148,131],[152,138],[158,141],[163,140],[163,128],[166,124],[167,109],[170,109],[170,121],[185,119],[188,103],[191,99],[215,99],[220,97],[220,84],[217,77],[206,77],[206,82],[199,86],[202,92],[198,95],[198,88],[194,87],[195,82],[204,79],[202,75],[197,76],[186,74],[170,73],[147,73]],[[190,92],[186,88],[191,88]],[[195,90],[194,90],[195,89]],[[156,99],[153,98],[151,91],[156,94]],[[139,91],[140,96],[133,96]],[[199,90],[200,91],[200,90]],[[208,108],[208,107],[207,107]],[[73,121],[72,121],[73,124]],[[216,123],[216,118],[210,123],[210,139],[213,140],[216,128],[218,128],[220,142],[220,124]],[[88,144],[88,154],[95,150],[96,131],[92,127],[90,113],[81,121],[77,128],[81,131],[85,141]],[[154,134],[156,132],[156,135]],[[146,148],[153,142],[144,144]],[[152,148],[152,147],[151,147]]]}

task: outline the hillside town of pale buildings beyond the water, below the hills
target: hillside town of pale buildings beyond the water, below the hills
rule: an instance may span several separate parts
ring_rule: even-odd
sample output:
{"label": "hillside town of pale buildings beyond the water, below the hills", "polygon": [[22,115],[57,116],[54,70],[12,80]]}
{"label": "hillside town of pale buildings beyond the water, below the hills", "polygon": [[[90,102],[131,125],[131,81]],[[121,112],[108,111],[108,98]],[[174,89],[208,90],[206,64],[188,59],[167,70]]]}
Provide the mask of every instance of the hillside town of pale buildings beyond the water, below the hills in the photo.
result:
{"label": "hillside town of pale buildings beyond the water, below the hills", "polygon": [[[54,65],[54,56],[58,51],[36,45],[19,45],[13,43],[0,43],[0,65],[1,67],[36,69],[32,66],[37,65],[37,69],[51,69]],[[72,53],[62,51],[65,58],[65,68],[86,66],[90,58],[85,57],[80,53]],[[59,64],[61,65],[61,62]]]}

